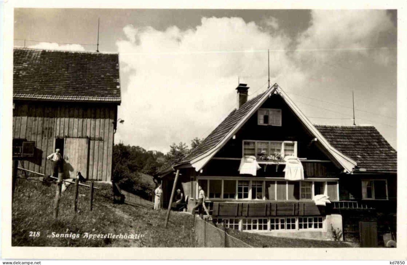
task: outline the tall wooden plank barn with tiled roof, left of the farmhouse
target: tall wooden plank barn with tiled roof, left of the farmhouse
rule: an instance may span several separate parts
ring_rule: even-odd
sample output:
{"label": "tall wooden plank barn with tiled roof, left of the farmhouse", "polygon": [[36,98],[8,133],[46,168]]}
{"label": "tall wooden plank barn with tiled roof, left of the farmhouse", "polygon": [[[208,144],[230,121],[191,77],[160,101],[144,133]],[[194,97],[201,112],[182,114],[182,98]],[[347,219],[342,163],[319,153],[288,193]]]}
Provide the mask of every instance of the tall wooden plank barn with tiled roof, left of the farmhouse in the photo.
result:
{"label": "tall wooden plank barn with tiled roof, left of the farmhouse", "polygon": [[59,148],[66,178],[80,171],[110,181],[121,101],[118,54],[15,48],[13,57],[13,155],[34,146],[21,166],[52,175],[46,157]]}

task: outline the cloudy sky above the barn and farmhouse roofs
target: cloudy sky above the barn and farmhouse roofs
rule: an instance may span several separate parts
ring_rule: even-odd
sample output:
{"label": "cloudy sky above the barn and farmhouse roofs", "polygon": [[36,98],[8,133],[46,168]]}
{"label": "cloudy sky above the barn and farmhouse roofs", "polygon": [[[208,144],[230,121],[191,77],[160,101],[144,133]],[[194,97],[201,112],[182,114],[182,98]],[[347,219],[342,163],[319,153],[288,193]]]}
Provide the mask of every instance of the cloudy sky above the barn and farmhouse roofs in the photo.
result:
{"label": "cloudy sky above the barn and farmhouse roofs", "polygon": [[115,141],[166,152],[278,83],[314,124],[374,125],[396,148],[397,24],[386,10],[15,9],[14,44],[120,57]]}

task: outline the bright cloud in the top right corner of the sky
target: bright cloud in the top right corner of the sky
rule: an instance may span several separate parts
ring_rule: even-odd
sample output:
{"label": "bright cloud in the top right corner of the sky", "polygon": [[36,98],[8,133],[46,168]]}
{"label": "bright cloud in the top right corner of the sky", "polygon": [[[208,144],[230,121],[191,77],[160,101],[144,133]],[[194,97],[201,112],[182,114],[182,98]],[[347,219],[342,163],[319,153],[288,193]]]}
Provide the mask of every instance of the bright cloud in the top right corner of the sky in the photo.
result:
{"label": "bright cloud in the top right corner of the sky", "polygon": [[385,10],[313,10],[311,26],[298,37],[295,56],[302,64],[320,65],[344,55],[378,57],[386,63],[386,49],[376,49],[381,33],[394,30]]}

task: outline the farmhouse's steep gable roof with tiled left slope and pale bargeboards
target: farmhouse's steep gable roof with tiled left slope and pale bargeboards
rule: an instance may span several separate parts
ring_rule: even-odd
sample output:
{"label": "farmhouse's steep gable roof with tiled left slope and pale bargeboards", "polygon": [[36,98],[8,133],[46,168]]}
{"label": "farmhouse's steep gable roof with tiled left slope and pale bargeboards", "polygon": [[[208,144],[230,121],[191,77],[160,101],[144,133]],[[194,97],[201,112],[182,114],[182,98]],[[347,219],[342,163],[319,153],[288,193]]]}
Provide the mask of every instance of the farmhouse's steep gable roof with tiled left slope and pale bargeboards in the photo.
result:
{"label": "farmhouse's steep gable roof with tiled left slope and pale bargeboards", "polygon": [[337,151],[332,147],[320,134],[320,132],[312,125],[300,109],[291,101],[289,96],[277,85],[274,84],[264,93],[247,101],[238,110],[233,110],[223,122],[214,129],[204,141],[201,142],[195,149],[187,155],[182,162],[175,164],[174,168],[183,166],[193,166],[196,171],[199,171],[213,155],[240,129],[240,127],[257,111],[257,109],[267,100],[269,95],[278,93],[287,105],[298,116],[302,123],[311,131],[311,133],[322,143],[332,158],[347,172],[352,172],[356,162],[346,155]]}

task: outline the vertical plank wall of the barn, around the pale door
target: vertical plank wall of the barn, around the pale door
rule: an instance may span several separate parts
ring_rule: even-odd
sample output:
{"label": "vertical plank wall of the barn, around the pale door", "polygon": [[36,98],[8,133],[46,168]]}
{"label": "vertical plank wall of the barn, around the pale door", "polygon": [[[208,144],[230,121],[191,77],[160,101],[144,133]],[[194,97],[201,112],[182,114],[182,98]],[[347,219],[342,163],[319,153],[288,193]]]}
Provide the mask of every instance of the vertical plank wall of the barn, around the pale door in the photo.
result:
{"label": "vertical plank wall of the barn, around the pale door", "polygon": [[46,157],[54,151],[55,138],[100,137],[90,140],[89,179],[110,181],[116,112],[116,105],[15,102],[13,138],[35,141],[35,147],[42,151],[41,165],[24,161],[24,167],[50,175],[51,163]]}

